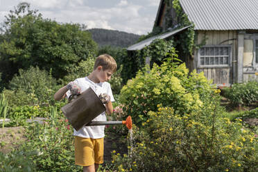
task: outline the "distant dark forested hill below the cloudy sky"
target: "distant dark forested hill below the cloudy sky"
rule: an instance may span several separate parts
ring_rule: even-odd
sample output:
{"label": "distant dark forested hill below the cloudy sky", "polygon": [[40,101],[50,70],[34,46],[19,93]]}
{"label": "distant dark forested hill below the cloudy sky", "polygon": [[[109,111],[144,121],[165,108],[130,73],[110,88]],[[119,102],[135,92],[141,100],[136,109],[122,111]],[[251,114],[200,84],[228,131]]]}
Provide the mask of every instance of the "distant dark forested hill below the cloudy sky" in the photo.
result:
{"label": "distant dark forested hill below the cloudy sky", "polygon": [[92,39],[98,44],[98,46],[110,45],[126,48],[135,44],[140,37],[140,35],[135,35],[133,33],[113,31],[103,28],[91,28],[87,31],[92,33]]}

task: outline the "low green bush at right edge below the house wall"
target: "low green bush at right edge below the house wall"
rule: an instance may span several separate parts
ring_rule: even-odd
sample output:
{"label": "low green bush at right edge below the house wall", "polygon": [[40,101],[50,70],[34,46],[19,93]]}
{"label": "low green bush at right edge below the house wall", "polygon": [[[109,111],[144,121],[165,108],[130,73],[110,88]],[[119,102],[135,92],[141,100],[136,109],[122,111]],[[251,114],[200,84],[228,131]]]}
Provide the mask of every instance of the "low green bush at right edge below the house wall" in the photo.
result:
{"label": "low green bush at right edge below the house wall", "polygon": [[232,105],[253,105],[258,100],[258,82],[236,83],[223,89],[224,95]]}

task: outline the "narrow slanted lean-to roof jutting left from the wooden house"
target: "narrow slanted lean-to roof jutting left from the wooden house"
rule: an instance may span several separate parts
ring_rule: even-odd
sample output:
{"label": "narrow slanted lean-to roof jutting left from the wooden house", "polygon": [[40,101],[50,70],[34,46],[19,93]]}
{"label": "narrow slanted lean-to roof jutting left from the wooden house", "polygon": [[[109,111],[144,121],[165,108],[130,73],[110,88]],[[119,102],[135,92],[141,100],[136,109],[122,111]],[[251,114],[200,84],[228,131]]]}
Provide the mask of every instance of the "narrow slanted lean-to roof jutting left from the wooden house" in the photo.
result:
{"label": "narrow slanted lean-to roof jutting left from the wooden house", "polygon": [[166,37],[170,37],[171,35],[174,35],[175,33],[179,33],[180,31],[183,31],[184,29],[189,28],[190,26],[185,26],[184,28],[178,28],[173,31],[169,31],[167,33],[163,33],[162,35],[155,35],[153,37],[149,37],[146,40],[142,40],[141,42],[138,42],[137,44],[133,44],[132,46],[128,47],[128,51],[135,51],[135,50],[140,50],[143,49],[145,46],[148,46],[153,42],[155,39],[164,39]]}

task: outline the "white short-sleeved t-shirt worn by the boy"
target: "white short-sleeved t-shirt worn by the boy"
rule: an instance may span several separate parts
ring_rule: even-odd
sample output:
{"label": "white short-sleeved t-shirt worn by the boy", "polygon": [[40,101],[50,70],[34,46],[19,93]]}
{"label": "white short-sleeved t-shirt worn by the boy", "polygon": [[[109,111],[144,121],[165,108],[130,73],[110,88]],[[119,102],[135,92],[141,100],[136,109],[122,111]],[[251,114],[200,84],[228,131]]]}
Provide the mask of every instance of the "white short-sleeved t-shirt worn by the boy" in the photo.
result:
{"label": "white short-sleeved t-shirt worn by the boy", "polygon": [[[101,93],[108,94],[110,96],[110,101],[114,101],[114,96],[112,94],[112,90],[110,87],[110,83],[94,83],[89,78],[77,78],[74,82],[80,86],[81,92],[84,92],[86,89],[91,87],[93,91],[99,95]],[[66,93],[67,97],[71,95],[70,91]],[[105,112],[99,114],[96,118],[92,121],[107,121],[107,117],[105,116]],[[74,135],[79,137],[85,138],[92,138],[92,139],[100,139],[105,136],[104,134],[105,126],[84,126],[80,128],[80,130],[76,131],[74,129]]]}

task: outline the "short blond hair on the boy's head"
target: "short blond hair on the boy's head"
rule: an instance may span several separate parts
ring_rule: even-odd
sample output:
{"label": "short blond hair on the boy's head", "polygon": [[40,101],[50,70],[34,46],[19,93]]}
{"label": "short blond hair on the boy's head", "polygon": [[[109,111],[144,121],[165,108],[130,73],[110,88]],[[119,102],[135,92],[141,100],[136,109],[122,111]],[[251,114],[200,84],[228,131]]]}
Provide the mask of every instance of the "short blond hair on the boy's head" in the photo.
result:
{"label": "short blond hair on the boy's head", "polygon": [[117,62],[111,55],[103,54],[99,55],[95,60],[94,70],[98,67],[103,67],[103,70],[110,69],[112,73],[117,71]]}

